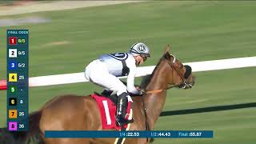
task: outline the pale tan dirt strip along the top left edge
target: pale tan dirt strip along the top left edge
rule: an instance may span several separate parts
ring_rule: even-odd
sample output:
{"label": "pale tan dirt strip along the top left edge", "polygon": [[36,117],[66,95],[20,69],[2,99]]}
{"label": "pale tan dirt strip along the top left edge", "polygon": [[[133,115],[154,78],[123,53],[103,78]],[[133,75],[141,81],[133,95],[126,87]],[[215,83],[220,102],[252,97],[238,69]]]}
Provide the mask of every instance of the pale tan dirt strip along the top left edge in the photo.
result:
{"label": "pale tan dirt strip along the top left edge", "polygon": [[1,15],[34,13],[38,11],[68,10],[80,7],[105,6],[143,1],[58,1],[58,2],[18,2],[14,6],[0,6]]}

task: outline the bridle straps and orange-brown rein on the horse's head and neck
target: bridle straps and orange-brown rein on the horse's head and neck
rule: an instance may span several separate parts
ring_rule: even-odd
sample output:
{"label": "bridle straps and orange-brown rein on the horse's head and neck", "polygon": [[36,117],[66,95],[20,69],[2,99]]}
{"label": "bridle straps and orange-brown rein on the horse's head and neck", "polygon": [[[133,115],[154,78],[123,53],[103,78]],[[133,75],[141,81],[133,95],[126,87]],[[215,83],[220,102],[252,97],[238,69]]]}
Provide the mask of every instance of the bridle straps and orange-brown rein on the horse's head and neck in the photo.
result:
{"label": "bridle straps and orange-brown rein on the horse's head and neck", "polygon": [[169,66],[177,72],[179,77],[182,78],[182,82],[180,82],[178,84],[171,85],[171,86],[167,86],[166,89],[146,90],[145,94],[161,93],[162,91],[169,90],[170,88],[173,88],[173,87],[178,87],[178,88],[183,88],[183,89],[186,89],[186,86],[192,87],[191,84],[186,83],[186,78],[184,78],[184,75],[181,74],[181,72],[179,70],[177,70],[177,68],[174,66],[174,63],[176,62],[176,57],[172,54],[170,54],[170,56],[172,56],[174,58],[174,60],[172,62],[169,61],[168,59],[166,59],[164,56],[161,58],[161,61],[162,61],[162,59],[164,59],[169,64]]}

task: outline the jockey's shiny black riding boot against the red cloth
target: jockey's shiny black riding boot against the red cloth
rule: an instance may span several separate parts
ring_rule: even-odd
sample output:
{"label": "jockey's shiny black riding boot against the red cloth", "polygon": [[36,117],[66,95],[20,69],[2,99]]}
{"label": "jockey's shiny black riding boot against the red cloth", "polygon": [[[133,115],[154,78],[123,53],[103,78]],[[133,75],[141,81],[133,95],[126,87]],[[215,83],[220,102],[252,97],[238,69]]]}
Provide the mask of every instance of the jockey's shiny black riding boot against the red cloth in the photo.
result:
{"label": "jockey's shiny black riding boot against the red cloth", "polygon": [[127,93],[122,93],[118,96],[118,106],[115,117],[115,122],[118,126],[125,126],[126,124],[133,122],[133,119],[126,119],[126,109],[128,106],[127,95]]}

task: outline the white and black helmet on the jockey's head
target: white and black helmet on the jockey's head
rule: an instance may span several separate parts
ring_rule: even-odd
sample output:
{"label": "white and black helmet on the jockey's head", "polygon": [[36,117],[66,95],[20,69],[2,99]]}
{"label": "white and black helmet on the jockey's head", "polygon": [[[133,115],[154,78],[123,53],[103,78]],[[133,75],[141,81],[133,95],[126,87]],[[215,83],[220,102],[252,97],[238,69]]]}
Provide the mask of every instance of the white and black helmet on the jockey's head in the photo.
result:
{"label": "white and black helmet on the jockey's head", "polygon": [[133,56],[142,55],[143,57],[150,57],[150,49],[144,43],[138,42],[130,47],[130,54]]}

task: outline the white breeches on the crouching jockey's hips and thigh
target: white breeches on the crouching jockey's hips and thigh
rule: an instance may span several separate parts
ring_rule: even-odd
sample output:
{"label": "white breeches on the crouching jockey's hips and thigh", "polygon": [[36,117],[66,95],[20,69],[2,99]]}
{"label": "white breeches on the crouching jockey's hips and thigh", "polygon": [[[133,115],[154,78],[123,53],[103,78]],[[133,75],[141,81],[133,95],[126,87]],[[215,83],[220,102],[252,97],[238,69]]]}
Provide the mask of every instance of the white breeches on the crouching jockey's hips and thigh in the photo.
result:
{"label": "white breeches on the crouching jockey's hips and thigh", "polygon": [[126,86],[117,77],[110,74],[106,64],[98,59],[86,66],[85,76],[86,79],[98,86],[117,91],[118,95],[127,92]]}

